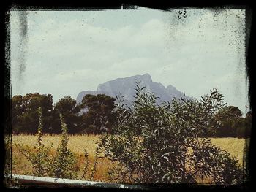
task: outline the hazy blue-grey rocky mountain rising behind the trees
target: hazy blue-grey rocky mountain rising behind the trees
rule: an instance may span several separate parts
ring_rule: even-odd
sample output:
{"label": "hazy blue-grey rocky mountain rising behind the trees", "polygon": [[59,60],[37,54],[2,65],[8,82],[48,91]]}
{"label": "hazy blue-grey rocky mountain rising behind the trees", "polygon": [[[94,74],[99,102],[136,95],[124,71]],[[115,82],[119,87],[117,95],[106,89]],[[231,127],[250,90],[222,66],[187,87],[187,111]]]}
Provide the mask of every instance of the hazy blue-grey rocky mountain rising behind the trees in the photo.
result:
{"label": "hazy blue-grey rocky mountain rising behind the trees", "polygon": [[159,97],[159,99],[157,99],[157,104],[160,104],[163,101],[171,101],[173,98],[182,97],[184,99],[192,99],[189,96],[184,96],[184,93],[178,91],[172,85],[168,85],[167,88],[165,88],[165,86],[162,85],[160,82],[152,81],[151,76],[149,74],[143,74],[135,75],[132,77],[118,78],[116,80],[110,80],[103,84],[99,84],[97,91],[80,92],[77,96],[76,101],[78,104],[80,104],[80,102],[83,99],[83,96],[85,96],[86,94],[105,94],[108,96],[112,96],[113,98],[116,98],[116,95],[121,95],[124,96],[124,102],[131,106],[132,101],[135,100],[134,87],[136,80],[141,81],[141,86],[146,86],[146,88],[144,89],[145,91],[154,93],[155,96]]}

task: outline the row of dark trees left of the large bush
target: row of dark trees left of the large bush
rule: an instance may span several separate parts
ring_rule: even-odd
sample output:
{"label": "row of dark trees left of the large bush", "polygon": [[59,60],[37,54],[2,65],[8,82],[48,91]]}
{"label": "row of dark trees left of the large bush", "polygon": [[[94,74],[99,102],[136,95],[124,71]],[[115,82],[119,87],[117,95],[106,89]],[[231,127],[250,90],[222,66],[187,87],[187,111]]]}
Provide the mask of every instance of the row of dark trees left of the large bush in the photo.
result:
{"label": "row of dark trees left of the large bush", "polygon": [[[113,113],[116,99],[99,94],[86,95],[82,104],[76,104],[75,99],[64,96],[53,105],[50,94],[40,95],[29,93],[26,96],[12,97],[12,131],[14,134],[36,134],[38,127],[38,107],[42,108],[42,131],[49,134],[61,133],[61,113],[69,127],[69,134],[100,134],[110,132],[116,122]],[[81,110],[88,112],[80,114]]]}

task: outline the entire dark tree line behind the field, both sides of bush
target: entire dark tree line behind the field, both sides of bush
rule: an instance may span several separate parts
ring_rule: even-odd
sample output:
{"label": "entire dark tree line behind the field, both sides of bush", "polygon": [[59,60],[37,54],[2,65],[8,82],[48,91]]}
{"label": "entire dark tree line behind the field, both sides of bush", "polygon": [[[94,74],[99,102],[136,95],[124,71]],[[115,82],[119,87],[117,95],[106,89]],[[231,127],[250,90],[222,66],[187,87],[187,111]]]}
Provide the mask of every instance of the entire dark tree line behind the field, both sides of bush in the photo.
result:
{"label": "entire dark tree line behind the field, both sides of bush", "polygon": [[[41,107],[44,133],[61,133],[60,113],[69,127],[69,134],[112,133],[118,123],[118,104],[115,101],[105,94],[88,94],[80,104],[71,96],[64,96],[53,104],[51,94],[15,95],[12,97],[12,132],[36,134],[39,126],[38,108]],[[213,117],[214,120],[200,133],[201,137],[249,137],[252,112],[242,117],[238,107],[226,106],[215,112]]]}

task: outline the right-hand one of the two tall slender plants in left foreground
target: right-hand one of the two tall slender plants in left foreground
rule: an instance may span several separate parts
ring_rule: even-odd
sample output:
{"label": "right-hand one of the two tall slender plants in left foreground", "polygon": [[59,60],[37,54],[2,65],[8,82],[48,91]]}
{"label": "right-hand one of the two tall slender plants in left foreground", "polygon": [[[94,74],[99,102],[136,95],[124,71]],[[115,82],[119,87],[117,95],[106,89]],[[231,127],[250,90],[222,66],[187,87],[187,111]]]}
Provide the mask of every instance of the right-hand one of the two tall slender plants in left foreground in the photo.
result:
{"label": "right-hand one of the two tall slender plants in left foreground", "polygon": [[61,142],[57,148],[57,153],[53,161],[53,176],[60,178],[75,177],[73,172],[75,166],[74,154],[68,148],[68,134],[67,124],[64,123],[63,115],[60,114],[61,119]]}

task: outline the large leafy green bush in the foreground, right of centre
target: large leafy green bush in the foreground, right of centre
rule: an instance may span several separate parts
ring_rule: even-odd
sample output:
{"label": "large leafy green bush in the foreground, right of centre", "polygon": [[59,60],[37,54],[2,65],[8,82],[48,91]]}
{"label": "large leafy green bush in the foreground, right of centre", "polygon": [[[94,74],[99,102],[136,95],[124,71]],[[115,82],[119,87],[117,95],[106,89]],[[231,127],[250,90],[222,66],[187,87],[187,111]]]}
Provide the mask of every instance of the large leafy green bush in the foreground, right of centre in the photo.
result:
{"label": "large leafy green bush in the foreground, right of centre", "polygon": [[[201,100],[173,99],[156,105],[153,93],[136,84],[133,110],[118,104],[118,126],[105,134],[99,149],[118,166],[110,178],[131,183],[241,183],[241,168],[205,134],[214,115],[225,107],[217,88]],[[205,135],[204,135],[205,134]]]}

